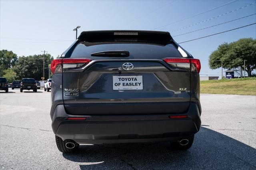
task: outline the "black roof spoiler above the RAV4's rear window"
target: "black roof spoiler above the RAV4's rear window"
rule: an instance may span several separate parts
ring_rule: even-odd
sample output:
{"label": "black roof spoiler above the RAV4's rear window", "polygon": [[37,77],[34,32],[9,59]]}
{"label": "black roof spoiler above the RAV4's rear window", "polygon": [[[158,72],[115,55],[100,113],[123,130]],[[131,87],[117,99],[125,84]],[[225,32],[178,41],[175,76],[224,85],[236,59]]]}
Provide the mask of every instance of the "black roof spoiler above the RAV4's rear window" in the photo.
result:
{"label": "black roof spoiler above the RAV4's rear window", "polygon": [[169,32],[138,31],[138,30],[109,30],[84,31],[78,40],[86,42],[154,42],[167,44],[172,41]]}

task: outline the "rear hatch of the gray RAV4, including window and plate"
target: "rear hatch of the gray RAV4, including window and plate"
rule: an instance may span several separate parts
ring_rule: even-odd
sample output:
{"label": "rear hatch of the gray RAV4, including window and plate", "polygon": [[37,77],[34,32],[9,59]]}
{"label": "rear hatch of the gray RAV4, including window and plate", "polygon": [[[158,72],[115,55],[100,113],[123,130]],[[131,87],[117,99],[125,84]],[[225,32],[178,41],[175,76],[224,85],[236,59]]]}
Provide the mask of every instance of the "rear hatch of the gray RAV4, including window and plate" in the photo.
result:
{"label": "rear hatch of the gray RAV4, including window and plate", "polygon": [[69,114],[187,111],[190,61],[178,62],[184,57],[170,34],[92,35],[81,34],[71,55],[62,61],[63,100]]}

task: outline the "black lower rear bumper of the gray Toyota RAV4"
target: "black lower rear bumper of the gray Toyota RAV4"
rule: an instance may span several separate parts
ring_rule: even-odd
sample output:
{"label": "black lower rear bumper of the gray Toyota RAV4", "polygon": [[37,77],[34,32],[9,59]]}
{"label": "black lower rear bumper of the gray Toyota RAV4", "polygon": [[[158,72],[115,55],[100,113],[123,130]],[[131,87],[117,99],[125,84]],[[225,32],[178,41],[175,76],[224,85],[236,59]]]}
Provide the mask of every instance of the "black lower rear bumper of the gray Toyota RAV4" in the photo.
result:
{"label": "black lower rear bumper of the gray Toyota RAV4", "polygon": [[[170,115],[188,118],[170,119]],[[190,103],[188,111],[179,114],[88,115],[85,121],[68,121],[67,117],[76,116],[68,115],[64,105],[57,105],[52,113],[53,132],[79,144],[180,140],[198,132],[201,125],[196,103]]]}

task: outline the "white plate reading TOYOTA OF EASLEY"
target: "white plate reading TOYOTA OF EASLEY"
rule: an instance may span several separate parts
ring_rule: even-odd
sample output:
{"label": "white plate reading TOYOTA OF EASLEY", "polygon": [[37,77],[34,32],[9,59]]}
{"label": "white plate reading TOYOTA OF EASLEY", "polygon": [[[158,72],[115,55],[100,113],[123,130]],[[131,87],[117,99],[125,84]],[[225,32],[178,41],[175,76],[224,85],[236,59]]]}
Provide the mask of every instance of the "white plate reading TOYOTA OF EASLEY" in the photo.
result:
{"label": "white plate reading TOYOTA OF EASLEY", "polygon": [[142,90],[142,75],[113,76],[113,90]]}

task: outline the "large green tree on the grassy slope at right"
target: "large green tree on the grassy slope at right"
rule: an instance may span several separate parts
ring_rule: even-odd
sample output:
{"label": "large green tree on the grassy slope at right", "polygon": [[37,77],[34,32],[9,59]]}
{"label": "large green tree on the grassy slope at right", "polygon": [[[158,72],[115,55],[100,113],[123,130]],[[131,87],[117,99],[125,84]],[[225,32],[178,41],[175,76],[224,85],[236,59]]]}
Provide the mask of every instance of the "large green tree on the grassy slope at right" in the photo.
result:
{"label": "large green tree on the grassy slope at right", "polygon": [[250,77],[256,69],[256,39],[242,38],[236,42],[219,45],[209,57],[209,66],[211,69],[217,69],[223,63],[225,69],[244,69],[244,60],[245,71]]}

